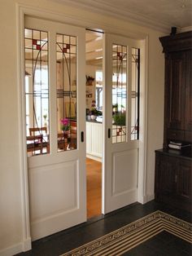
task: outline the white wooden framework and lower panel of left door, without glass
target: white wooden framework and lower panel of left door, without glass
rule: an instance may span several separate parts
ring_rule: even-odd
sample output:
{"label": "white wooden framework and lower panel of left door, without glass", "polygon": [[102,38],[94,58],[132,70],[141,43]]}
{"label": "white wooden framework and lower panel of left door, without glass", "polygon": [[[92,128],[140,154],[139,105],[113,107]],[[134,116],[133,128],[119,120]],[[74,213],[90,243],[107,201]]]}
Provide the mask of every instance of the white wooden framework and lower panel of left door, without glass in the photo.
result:
{"label": "white wooden framework and lower panel of left door, without glass", "polygon": [[[24,26],[49,33],[50,153],[28,157],[32,239],[37,240],[86,221],[85,29],[26,16]],[[77,148],[58,152],[56,109],[56,33],[77,38]],[[80,90],[78,90],[78,88]]]}

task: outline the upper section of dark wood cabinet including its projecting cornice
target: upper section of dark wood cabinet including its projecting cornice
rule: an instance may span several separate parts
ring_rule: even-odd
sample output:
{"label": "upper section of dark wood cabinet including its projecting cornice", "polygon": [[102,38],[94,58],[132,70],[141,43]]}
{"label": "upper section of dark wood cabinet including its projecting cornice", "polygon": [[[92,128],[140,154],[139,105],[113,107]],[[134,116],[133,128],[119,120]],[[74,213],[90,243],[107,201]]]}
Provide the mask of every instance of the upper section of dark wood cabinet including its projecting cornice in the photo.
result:
{"label": "upper section of dark wood cabinet including its projecting cornice", "polygon": [[192,32],[159,38],[165,54],[164,148],[192,141]]}

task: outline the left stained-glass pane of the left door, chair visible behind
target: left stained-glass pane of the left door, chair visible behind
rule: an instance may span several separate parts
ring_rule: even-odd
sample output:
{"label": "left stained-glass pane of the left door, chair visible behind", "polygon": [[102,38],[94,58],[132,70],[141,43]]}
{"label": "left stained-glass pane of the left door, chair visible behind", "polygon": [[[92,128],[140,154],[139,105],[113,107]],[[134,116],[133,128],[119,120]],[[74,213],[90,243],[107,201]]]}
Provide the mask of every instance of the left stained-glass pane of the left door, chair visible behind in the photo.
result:
{"label": "left stained-glass pane of the left door, chair visible behind", "polygon": [[48,33],[24,29],[28,156],[50,152]]}

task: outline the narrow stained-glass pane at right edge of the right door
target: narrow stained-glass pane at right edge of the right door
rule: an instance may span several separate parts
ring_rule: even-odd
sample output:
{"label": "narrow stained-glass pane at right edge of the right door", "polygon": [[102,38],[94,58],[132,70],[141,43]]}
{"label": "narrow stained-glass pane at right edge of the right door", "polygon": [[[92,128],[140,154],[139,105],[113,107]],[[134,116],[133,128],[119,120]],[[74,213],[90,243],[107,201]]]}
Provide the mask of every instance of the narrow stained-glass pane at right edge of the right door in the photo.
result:
{"label": "narrow stained-glass pane at right edge of the right door", "polygon": [[131,140],[139,139],[139,49],[132,48]]}

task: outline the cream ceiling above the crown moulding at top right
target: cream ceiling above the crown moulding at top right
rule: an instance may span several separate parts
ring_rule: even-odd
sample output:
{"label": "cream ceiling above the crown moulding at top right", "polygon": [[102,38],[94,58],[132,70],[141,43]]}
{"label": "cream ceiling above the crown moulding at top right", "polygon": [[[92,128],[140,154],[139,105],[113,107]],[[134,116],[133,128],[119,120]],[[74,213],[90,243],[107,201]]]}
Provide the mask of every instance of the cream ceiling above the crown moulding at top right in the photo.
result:
{"label": "cream ceiling above the crown moulding at top right", "polygon": [[[52,0],[168,32],[192,26],[191,0]],[[191,28],[190,28],[191,29]]]}

